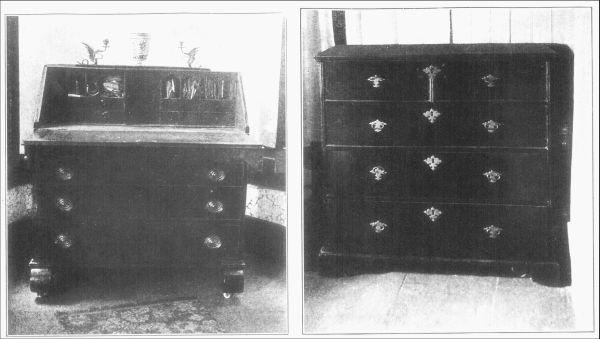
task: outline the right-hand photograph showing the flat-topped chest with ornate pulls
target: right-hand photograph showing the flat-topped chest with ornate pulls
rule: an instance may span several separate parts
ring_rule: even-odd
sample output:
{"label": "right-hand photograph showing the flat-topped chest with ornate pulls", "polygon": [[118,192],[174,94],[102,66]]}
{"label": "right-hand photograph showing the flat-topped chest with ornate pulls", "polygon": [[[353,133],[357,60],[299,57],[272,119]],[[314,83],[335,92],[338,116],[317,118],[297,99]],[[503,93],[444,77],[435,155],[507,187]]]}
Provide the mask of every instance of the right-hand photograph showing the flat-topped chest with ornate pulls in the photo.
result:
{"label": "right-hand photograph showing the flat-topped chest with ornate pulls", "polygon": [[592,9],[301,15],[304,333],[589,328]]}

